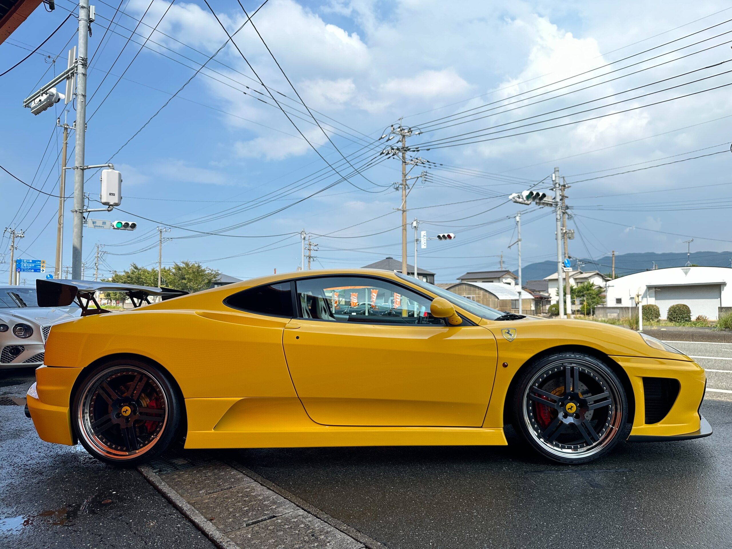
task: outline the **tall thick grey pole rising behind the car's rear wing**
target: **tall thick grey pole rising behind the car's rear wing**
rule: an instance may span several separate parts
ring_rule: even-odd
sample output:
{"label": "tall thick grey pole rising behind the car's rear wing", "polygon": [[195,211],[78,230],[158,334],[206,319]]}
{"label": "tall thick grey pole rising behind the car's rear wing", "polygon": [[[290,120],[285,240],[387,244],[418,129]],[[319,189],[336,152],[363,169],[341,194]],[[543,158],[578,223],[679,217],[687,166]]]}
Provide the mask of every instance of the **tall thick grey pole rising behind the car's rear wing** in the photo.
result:
{"label": "tall thick grey pole rising behind the car's rear wing", "polygon": [[74,209],[72,223],[71,277],[81,277],[81,231],[84,209],[84,145],[86,143],[86,65],[89,48],[89,0],[79,0],[79,49],[76,61],[76,143],[74,157]]}

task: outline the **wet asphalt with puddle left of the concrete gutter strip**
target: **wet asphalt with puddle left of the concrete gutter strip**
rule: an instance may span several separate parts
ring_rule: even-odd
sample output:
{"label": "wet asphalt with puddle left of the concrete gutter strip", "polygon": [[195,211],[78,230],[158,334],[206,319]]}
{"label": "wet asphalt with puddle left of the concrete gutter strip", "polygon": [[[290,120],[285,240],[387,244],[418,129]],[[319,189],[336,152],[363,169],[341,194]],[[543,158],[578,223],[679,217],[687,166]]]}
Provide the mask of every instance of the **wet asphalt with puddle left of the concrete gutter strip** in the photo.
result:
{"label": "wet asphalt with puddle left of the concrete gutter strip", "polygon": [[[0,399],[25,397],[33,381],[32,370],[0,370]],[[45,443],[21,406],[0,406],[0,548],[56,547],[214,545],[135,469]]]}

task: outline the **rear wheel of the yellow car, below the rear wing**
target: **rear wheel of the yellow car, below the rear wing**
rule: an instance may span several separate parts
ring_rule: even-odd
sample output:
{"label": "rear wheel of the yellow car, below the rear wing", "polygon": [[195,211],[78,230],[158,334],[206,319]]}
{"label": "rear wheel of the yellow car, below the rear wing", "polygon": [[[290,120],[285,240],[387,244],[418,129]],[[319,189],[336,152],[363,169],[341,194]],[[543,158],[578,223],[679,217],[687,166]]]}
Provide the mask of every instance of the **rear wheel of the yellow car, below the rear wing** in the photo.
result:
{"label": "rear wheel of the yellow car, below the rear wing", "polygon": [[94,458],[114,466],[138,466],[178,438],[182,402],[159,367],[113,360],[95,367],[78,385],[72,427]]}

